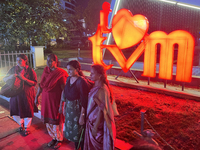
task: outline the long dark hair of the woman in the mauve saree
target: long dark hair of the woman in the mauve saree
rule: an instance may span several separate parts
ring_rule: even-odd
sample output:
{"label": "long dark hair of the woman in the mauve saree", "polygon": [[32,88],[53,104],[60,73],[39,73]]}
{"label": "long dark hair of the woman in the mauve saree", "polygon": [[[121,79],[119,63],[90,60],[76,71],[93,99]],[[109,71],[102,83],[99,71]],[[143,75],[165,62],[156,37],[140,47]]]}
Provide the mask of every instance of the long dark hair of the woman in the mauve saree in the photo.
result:
{"label": "long dark hair of the woman in the mauve saree", "polygon": [[110,91],[110,101],[112,103],[113,102],[113,92],[112,92],[112,89],[110,88],[110,84],[109,84],[108,79],[107,79],[106,70],[104,69],[104,67],[102,65],[99,65],[99,64],[92,65],[92,68],[98,74],[101,75],[100,80],[108,86],[108,89]]}

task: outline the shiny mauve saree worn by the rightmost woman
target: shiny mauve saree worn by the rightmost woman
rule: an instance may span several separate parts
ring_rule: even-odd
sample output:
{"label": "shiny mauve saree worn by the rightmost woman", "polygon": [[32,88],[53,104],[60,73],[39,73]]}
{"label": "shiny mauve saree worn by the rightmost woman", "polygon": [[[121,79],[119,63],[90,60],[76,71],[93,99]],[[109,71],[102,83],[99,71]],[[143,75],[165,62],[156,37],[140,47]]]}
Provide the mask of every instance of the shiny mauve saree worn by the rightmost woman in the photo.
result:
{"label": "shiny mauve saree worn by the rightmost woman", "polygon": [[[97,136],[94,137],[92,135],[92,128],[97,119],[99,109],[104,114],[104,122],[101,122],[103,128],[98,128]],[[113,150],[116,139],[116,127],[112,104],[110,103],[109,89],[106,85],[91,89],[88,96],[87,115],[84,150]]]}

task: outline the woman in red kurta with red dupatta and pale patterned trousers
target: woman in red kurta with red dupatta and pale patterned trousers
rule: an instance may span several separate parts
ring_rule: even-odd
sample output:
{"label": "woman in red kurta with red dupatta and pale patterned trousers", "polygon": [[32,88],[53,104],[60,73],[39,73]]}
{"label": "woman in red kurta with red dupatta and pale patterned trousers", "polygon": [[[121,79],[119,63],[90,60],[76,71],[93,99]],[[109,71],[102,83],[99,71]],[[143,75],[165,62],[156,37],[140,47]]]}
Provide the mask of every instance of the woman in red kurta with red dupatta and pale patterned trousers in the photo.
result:
{"label": "woman in red kurta with red dupatta and pale patterned trousers", "polygon": [[55,149],[59,148],[63,141],[64,116],[59,113],[59,105],[67,76],[65,70],[58,68],[57,56],[48,55],[47,67],[44,68],[35,103],[38,103],[38,97],[42,93],[41,118],[52,137],[48,147],[53,146]]}

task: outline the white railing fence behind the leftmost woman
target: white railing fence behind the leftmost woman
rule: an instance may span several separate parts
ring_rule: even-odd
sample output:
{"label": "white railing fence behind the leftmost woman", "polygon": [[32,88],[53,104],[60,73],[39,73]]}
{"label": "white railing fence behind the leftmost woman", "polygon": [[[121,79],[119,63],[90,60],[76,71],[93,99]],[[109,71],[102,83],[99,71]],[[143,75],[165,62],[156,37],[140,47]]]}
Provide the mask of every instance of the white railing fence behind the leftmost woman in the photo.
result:
{"label": "white railing fence behind the leftmost woman", "polygon": [[24,51],[3,51],[0,52],[0,69],[9,70],[11,67],[16,65],[17,55],[25,54],[28,57],[28,63],[31,68],[34,68],[34,52],[31,50],[24,50]]}

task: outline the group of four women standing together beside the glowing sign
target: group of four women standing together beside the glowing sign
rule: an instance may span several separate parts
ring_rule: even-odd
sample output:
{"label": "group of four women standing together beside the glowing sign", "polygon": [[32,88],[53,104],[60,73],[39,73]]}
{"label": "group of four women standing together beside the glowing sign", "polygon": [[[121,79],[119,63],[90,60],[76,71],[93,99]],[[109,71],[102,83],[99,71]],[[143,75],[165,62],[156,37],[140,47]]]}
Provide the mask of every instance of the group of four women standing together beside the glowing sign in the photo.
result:
{"label": "group of four women standing together beside the glowing sign", "polygon": [[67,73],[58,67],[57,56],[50,54],[35,95],[37,76],[27,62],[26,55],[18,55],[17,66],[4,78],[5,82],[19,78],[24,83],[24,90],[10,99],[10,115],[20,125],[20,132],[30,134],[34,105],[42,93],[41,118],[52,137],[49,147],[62,145],[64,124],[64,136],[75,143],[75,149],[114,149],[114,115],[118,112],[104,67],[92,65],[89,80],[78,61],[67,63]]}

